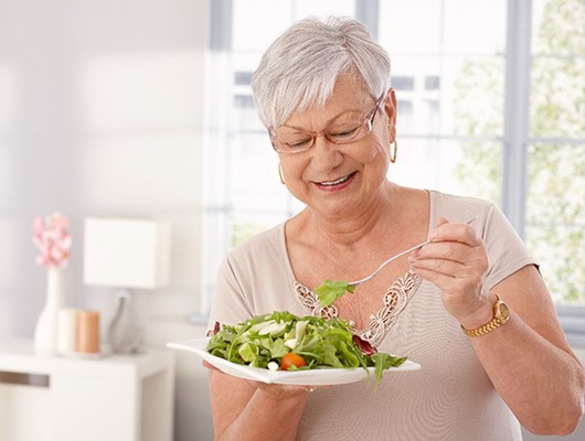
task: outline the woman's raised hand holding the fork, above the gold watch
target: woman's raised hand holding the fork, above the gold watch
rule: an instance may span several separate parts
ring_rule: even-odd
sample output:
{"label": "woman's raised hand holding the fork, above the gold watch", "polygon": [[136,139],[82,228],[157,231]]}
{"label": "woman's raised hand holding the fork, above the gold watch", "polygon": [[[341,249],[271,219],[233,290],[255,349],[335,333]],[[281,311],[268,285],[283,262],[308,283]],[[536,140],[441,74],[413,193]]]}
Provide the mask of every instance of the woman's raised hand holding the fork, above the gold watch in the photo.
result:
{"label": "woman's raised hand holding the fork, above the gold watch", "polygon": [[430,238],[410,256],[411,269],[442,290],[445,308],[465,327],[491,320],[496,300],[483,283],[489,266],[483,241],[469,225],[445,218]]}

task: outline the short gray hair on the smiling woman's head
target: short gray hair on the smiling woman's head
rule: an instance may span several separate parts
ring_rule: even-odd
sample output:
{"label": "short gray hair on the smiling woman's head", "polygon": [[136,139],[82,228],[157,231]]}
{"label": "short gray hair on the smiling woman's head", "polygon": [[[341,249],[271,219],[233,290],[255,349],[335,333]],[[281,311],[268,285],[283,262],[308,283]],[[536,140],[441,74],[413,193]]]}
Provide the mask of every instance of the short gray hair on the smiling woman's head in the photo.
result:
{"label": "short gray hair on the smiling woman's head", "polygon": [[341,74],[353,75],[377,99],[390,88],[390,57],[357,20],[309,17],[294,23],[264,53],[252,78],[262,122],[276,128],[292,111],[323,106]]}

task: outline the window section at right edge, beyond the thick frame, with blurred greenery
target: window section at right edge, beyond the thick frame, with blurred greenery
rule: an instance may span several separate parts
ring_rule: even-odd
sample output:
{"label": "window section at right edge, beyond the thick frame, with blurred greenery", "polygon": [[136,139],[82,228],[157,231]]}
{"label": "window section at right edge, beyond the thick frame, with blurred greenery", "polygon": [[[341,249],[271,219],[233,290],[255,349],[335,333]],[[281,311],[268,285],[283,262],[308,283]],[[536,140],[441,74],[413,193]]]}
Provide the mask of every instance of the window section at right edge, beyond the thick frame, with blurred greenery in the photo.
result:
{"label": "window section at right edge, beyond the thick frame, with blurred greenery", "polygon": [[525,236],[556,298],[585,304],[585,3],[533,18]]}

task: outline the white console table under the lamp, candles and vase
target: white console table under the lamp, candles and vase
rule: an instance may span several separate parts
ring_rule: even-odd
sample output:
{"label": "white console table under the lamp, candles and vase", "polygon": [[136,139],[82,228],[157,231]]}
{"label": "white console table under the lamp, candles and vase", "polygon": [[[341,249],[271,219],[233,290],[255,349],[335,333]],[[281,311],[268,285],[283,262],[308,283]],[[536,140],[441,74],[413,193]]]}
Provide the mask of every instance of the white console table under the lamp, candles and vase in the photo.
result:
{"label": "white console table under the lamp, candles and vase", "polygon": [[0,441],[171,441],[171,351],[98,359],[0,342]]}

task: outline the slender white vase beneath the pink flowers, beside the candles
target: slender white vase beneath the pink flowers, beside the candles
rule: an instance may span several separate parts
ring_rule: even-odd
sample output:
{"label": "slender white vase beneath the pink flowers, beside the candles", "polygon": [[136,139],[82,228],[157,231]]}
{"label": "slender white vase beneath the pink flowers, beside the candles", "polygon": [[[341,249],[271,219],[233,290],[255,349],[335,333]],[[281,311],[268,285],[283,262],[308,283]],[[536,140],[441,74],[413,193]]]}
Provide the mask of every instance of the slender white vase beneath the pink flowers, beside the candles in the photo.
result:
{"label": "slender white vase beneath the pink flowers, beside the candles", "polygon": [[63,269],[49,267],[46,276],[46,299],[34,329],[34,351],[54,355],[57,352],[59,311],[64,301]]}

